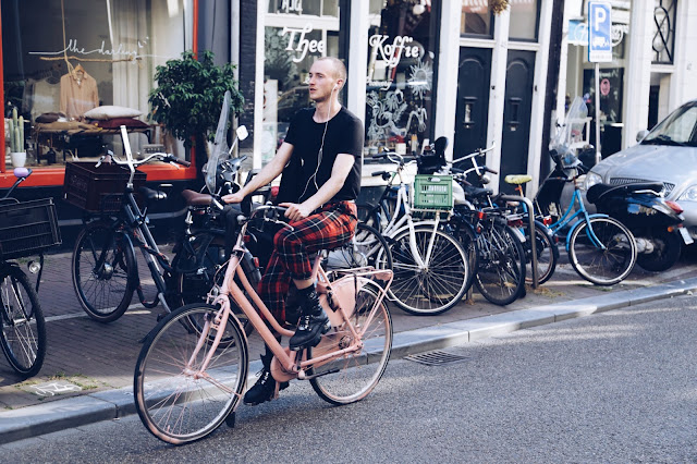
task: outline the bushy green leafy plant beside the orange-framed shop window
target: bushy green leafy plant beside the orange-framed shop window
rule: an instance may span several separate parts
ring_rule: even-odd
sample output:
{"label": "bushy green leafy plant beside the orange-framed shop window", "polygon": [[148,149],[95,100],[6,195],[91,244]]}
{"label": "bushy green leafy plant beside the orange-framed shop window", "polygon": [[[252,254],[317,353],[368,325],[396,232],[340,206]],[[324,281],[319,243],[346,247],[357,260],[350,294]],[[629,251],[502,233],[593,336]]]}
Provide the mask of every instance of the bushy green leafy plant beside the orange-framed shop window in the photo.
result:
{"label": "bushy green leafy plant beside the orange-framed shop window", "polygon": [[198,59],[184,51],[181,59],[157,66],[157,87],[150,90],[151,118],[192,146],[192,138],[212,141],[225,90],[232,96],[231,110],[240,112],[244,99],[234,80],[234,64],[216,65],[213,52],[204,50]]}

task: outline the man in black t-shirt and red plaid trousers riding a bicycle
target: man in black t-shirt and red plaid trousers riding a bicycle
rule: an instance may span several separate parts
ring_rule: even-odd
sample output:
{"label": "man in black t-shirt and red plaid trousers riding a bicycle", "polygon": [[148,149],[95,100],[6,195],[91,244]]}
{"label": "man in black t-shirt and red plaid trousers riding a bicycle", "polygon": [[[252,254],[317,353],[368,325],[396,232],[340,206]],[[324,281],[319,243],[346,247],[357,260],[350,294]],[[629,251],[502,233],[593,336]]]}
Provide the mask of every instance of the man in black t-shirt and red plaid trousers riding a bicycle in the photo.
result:
{"label": "man in black t-shirt and red plaid trousers riding a bicycle", "polygon": [[[315,108],[298,111],[273,159],[242,190],[222,197],[225,203],[241,203],[283,174],[278,202],[288,207],[285,217],[292,229],[284,228],[274,235],[259,294],[273,316],[283,321],[290,283],[295,284],[301,316],[290,341],[293,351],[316,346],[330,329],[310,279],[310,254],[348,242],[357,223],[355,199],[360,191],[364,127],[339,102],[345,82],[346,68],[340,60],[317,59],[309,70],[309,98]],[[276,395],[272,357],[267,346],[261,356],[264,370],[245,394],[246,404],[260,404]]]}

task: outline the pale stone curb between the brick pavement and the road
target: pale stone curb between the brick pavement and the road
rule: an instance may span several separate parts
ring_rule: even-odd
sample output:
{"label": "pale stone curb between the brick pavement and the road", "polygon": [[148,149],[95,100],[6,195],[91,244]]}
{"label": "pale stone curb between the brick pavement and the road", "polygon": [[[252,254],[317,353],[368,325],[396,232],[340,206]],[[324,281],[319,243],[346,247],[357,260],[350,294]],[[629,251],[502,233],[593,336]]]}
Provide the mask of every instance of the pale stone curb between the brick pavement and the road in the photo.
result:
{"label": "pale stone curb between the brick pavement and the road", "polygon": [[[392,358],[697,291],[697,278],[395,333]],[[261,363],[249,364],[254,380]],[[249,381],[249,380],[248,380]],[[0,444],[135,414],[131,387],[0,413]]]}

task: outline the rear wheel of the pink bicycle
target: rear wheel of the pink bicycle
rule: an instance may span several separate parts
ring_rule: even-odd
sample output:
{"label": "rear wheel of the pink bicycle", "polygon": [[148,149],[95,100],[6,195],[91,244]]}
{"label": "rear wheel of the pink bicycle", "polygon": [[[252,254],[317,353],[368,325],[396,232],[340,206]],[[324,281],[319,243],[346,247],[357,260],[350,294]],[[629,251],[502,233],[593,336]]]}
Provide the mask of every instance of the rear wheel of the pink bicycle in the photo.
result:
{"label": "rear wheel of the pink bicycle", "polygon": [[[308,373],[317,376],[310,379],[315,392],[331,404],[350,404],[364,399],[384,374],[392,351],[392,318],[384,300],[372,314],[370,326],[365,327],[377,298],[378,292],[367,284],[356,295],[351,323],[365,332],[363,350],[335,357]],[[352,333],[344,326],[332,327],[316,349],[308,349],[307,356],[321,356],[348,346],[353,342]]]}

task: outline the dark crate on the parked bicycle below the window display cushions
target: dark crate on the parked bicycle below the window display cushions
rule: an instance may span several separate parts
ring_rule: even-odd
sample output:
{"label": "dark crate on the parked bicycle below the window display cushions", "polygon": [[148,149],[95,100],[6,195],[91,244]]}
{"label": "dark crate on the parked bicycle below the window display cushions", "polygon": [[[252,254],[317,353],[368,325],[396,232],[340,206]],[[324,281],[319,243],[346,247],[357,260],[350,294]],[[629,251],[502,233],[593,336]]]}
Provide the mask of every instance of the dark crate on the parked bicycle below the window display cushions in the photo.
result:
{"label": "dark crate on the parked bicycle below the window display cushions", "polygon": [[[131,172],[127,168],[95,162],[65,163],[63,198],[65,202],[90,212],[114,212],[121,209],[123,192]],[[145,185],[146,173],[136,169],[133,176],[135,192]]]}

